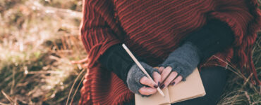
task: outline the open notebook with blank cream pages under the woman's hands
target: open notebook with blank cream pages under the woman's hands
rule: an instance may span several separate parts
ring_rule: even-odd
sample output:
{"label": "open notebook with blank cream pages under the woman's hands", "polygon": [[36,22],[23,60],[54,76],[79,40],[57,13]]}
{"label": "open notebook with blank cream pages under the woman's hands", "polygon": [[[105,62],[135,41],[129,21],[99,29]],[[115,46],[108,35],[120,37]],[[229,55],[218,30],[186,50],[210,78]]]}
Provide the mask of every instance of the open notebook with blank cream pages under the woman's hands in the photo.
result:
{"label": "open notebook with blank cream pages under the woman's hands", "polygon": [[162,91],[165,97],[162,97],[159,92],[152,94],[150,97],[141,97],[139,94],[135,94],[135,105],[173,104],[196,97],[202,97],[206,94],[198,69],[195,69],[193,73],[186,78],[186,81],[181,81]]}

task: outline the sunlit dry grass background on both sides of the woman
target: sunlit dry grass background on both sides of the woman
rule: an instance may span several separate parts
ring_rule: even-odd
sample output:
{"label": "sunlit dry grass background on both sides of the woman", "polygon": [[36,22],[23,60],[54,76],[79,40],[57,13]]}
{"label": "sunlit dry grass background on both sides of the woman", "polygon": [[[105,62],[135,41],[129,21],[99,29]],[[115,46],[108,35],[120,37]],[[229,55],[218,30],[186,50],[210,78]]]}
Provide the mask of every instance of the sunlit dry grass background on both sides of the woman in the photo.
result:
{"label": "sunlit dry grass background on both sides of the woman", "polygon": [[[86,73],[71,64],[80,41],[82,0],[0,0],[0,104],[78,104]],[[261,31],[253,59],[261,78]],[[219,104],[261,104],[261,90],[229,67]]]}

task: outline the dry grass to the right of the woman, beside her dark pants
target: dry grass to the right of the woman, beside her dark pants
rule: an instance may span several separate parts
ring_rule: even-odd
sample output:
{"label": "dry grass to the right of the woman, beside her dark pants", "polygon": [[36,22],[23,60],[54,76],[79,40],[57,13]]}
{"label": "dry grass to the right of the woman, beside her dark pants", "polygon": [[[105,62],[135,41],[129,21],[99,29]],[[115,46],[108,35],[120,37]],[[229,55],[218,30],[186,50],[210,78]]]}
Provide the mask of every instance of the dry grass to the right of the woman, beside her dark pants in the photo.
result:
{"label": "dry grass to the right of the woman, beside her dark pants", "polygon": [[[257,75],[261,75],[261,32],[258,32],[257,41],[253,48],[253,60]],[[233,71],[226,83],[225,92],[219,101],[221,105],[230,104],[261,104],[261,90],[250,83],[250,76],[245,77],[240,73],[239,69],[229,66],[229,70]]]}

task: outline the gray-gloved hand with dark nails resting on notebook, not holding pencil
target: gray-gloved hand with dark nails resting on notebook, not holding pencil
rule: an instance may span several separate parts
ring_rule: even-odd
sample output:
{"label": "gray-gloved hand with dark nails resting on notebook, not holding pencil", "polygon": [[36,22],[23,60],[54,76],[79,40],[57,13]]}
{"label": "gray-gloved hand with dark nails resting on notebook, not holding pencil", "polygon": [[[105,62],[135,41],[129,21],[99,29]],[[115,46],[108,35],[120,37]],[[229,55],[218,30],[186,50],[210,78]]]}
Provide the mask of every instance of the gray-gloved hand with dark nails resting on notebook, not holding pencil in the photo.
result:
{"label": "gray-gloved hand with dark nails resting on notebook, not holding pencil", "polygon": [[[177,48],[165,61],[159,65],[161,73],[161,88],[169,84],[177,84],[193,72],[200,62],[198,48],[193,43],[186,42]],[[165,80],[166,79],[166,80]]]}

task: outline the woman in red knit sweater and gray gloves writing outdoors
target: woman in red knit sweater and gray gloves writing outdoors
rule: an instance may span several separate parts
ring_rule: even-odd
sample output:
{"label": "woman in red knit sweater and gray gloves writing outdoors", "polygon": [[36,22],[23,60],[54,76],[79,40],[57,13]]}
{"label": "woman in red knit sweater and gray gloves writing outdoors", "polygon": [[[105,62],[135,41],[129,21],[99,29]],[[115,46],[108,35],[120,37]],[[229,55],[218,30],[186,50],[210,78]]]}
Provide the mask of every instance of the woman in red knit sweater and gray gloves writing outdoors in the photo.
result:
{"label": "woman in red knit sweater and gray gloves writing outdoors", "polygon": [[134,104],[133,93],[154,94],[156,87],[186,80],[197,66],[207,94],[178,104],[215,104],[228,62],[253,73],[252,83],[260,85],[251,58],[260,23],[255,0],[84,0],[81,36],[88,69],[79,104]]}

